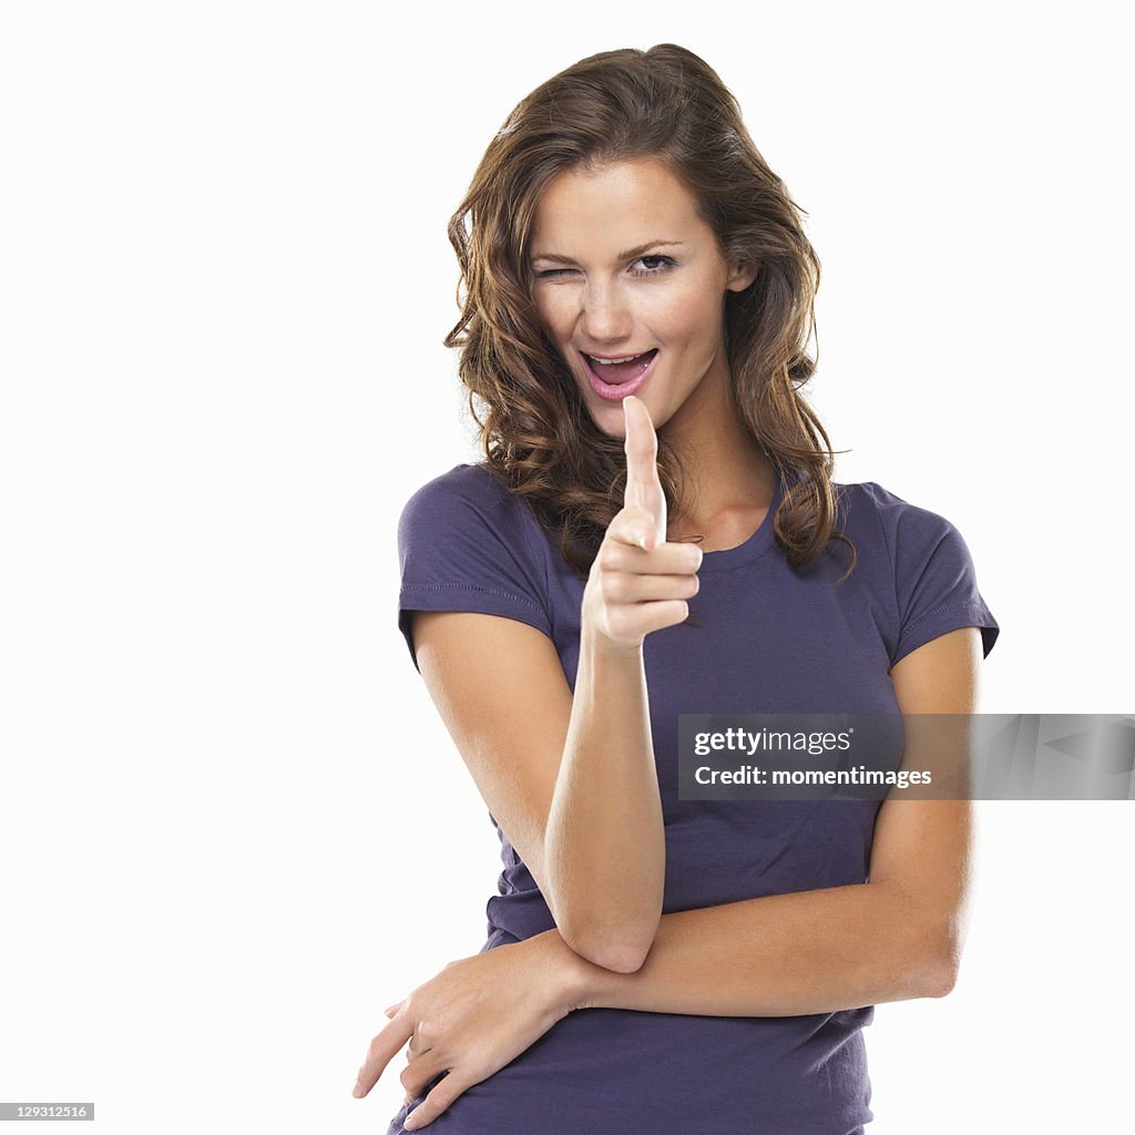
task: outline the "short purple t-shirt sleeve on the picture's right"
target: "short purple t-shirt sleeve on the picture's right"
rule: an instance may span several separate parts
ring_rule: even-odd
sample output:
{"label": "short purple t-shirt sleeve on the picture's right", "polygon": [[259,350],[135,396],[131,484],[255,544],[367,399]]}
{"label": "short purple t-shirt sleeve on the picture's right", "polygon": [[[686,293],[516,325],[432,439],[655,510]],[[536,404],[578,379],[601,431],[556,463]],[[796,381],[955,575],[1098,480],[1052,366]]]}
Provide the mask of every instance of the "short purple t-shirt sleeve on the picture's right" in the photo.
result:
{"label": "short purple t-shirt sleeve on the picture's right", "polygon": [[894,569],[898,636],[891,665],[960,627],[981,631],[982,654],[989,657],[1001,629],[977,589],[977,572],[961,533],[945,518],[874,484],[872,488]]}

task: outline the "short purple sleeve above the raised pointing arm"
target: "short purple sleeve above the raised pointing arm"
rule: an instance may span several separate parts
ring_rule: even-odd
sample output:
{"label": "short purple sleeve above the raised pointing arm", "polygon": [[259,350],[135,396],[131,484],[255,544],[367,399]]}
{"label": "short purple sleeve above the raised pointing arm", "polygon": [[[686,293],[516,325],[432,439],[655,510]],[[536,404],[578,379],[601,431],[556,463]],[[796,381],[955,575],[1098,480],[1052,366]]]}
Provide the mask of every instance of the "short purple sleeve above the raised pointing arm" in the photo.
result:
{"label": "short purple sleeve above the raised pointing arm", "polygon": [[411,611],[476,611],[552,637],[547,568],[535,516],[479,465],[457,465],[423,485],[398,519],[398,629],[418,669]]}

